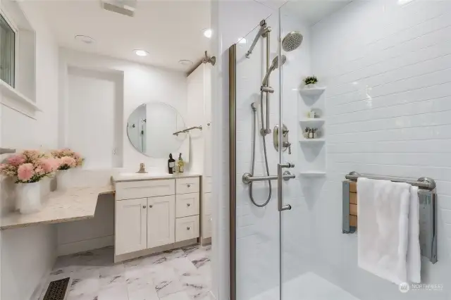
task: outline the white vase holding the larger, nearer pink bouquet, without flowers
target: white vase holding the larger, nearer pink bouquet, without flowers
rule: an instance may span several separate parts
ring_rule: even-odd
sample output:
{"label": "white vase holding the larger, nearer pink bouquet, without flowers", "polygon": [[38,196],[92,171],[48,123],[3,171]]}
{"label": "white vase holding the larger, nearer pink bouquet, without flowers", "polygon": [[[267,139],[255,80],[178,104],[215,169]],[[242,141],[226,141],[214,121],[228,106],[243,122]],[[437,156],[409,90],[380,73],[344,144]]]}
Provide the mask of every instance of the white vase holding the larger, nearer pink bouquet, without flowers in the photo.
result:
{"label": "white vase holding the larger, nearer pink bouquet, without flowers", "polygon": [[16,184],[16,201],[20,213],[36,213],[42,208],[41,183]]}

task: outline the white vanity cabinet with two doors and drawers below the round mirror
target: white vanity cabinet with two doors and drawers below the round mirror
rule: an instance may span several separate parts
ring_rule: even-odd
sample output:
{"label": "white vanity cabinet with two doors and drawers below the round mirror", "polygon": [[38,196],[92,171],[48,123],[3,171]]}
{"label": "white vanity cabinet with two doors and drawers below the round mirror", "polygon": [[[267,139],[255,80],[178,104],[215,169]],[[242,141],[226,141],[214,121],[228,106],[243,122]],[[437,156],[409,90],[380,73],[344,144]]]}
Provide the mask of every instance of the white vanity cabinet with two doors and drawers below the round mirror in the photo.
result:
{"label": "white vanity cabinet with two doors and drawers below the round mirror", "polygon": [[115,255],[197,241],[199,192],[199,176],[116,182]]}

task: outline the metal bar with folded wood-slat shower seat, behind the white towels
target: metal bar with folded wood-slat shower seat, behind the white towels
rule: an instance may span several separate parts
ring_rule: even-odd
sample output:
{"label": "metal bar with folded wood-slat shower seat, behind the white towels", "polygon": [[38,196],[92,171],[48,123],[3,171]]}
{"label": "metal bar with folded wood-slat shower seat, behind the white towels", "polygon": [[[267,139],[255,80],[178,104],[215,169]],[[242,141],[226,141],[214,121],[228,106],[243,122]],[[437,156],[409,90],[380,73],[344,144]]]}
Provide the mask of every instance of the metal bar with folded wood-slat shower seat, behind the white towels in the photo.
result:
{"label": "metal bar with folded wood-slat shower seat, behind the white towels", "polygon": [[393,182],[405,182],[419,187],[419,225],[421,255],[428,258],[431,263],[437,262],[437,194],[435,180],[430,177],[421,177],[418,180],[406,180],[396,177],[384,177],[378,175],[363,175],[351,172],[345,176],[347,180],[342,182],[342,232],[354,233],[358,225],[358,201],[357,179],[369,178],[376,180],[390,180]]}

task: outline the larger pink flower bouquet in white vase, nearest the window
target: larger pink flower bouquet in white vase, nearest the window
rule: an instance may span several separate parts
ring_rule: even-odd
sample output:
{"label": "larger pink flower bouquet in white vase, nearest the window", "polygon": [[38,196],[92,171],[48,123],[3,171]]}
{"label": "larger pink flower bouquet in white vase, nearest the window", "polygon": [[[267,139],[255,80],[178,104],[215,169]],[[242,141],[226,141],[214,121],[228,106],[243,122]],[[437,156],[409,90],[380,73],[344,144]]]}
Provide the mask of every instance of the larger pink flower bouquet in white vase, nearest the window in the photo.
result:
{"label": "larger pink flower bouquet in white vase, nearest the window", "polygon": [[59,161],[37,150],[25,150],[0,164],[0,174],[16,182],[16,207],[20,213],[35,213],[41,209],[40,181],[51,177]]}

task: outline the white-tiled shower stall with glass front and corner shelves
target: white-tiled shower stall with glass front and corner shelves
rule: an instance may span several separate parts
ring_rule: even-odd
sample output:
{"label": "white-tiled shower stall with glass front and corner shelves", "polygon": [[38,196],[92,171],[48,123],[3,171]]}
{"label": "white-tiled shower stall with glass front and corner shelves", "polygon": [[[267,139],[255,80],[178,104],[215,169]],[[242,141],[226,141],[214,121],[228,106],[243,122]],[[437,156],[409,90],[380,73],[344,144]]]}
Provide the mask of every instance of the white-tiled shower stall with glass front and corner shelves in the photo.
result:
{"label": "white-tiled shower stall with glass front and corner shelves", "polygon": [[427,154],[450,139],[439,128],[451,118],[451,3],[321,1],[333,9],[307,22],[301,2],[320,1],[288,1],[228,49],[230,298],[449,299],[449,224],[439,216],[438,263],[421,265],[422,282],[443,290],[405,296],[358,268],[342,180],[356,170],[451,181]]}

